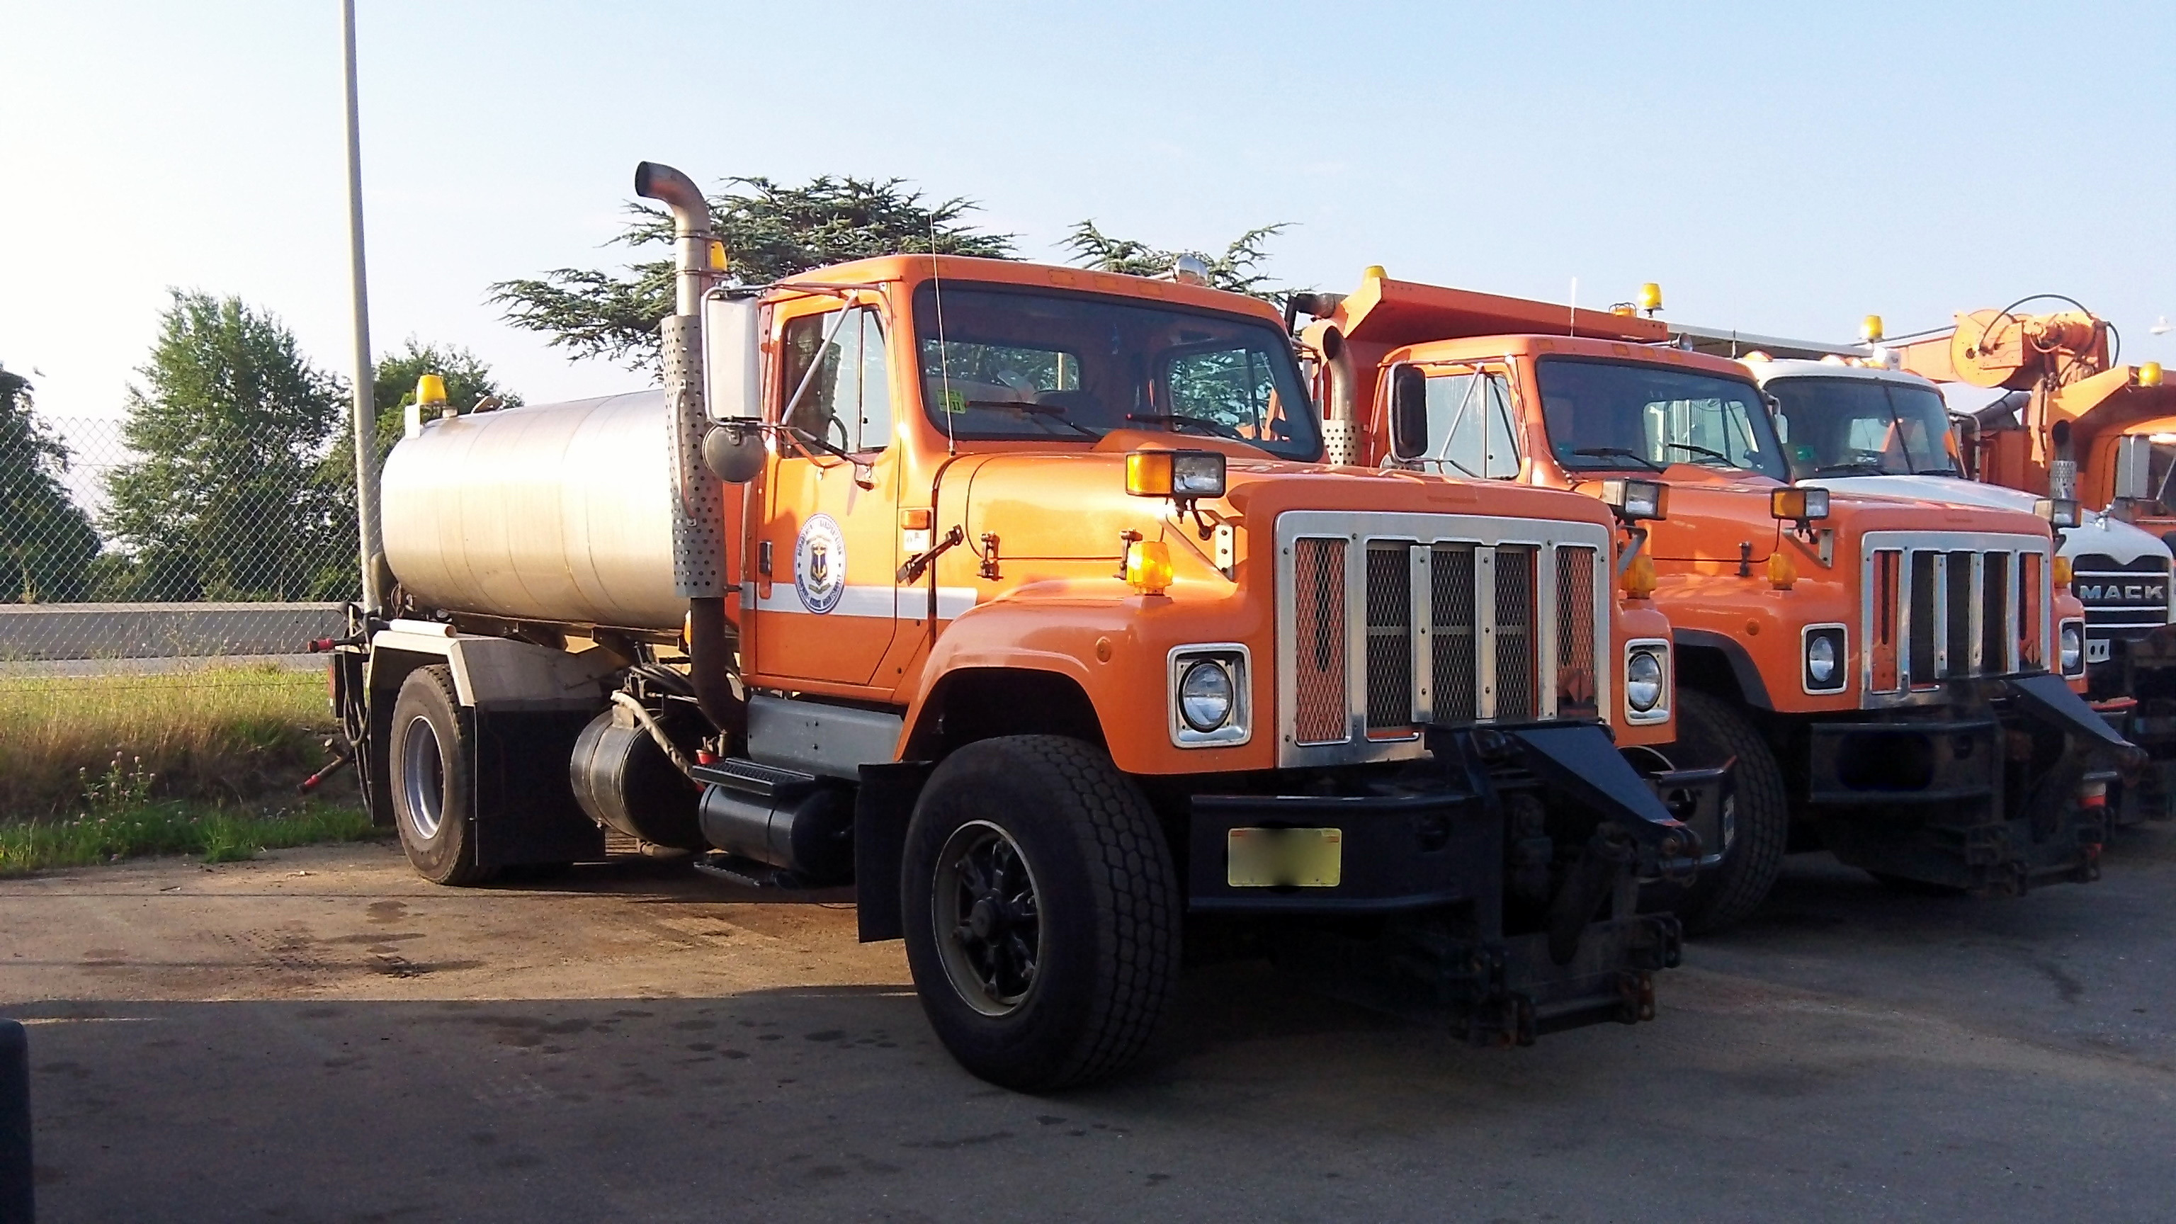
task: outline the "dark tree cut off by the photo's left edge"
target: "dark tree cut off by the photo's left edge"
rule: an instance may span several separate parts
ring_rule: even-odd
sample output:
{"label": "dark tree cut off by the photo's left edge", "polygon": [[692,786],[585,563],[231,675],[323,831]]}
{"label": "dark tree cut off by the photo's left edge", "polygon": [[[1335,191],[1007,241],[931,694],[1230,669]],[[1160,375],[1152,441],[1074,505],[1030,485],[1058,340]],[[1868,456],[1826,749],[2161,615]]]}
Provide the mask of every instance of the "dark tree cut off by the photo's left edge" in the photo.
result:
{"label": "dark tree cut off by the photo's left edge", "polygon": [[30,379],[0,366],[0,603],[83,599],[98,531],[65,473],[67,446],[30,407]]}

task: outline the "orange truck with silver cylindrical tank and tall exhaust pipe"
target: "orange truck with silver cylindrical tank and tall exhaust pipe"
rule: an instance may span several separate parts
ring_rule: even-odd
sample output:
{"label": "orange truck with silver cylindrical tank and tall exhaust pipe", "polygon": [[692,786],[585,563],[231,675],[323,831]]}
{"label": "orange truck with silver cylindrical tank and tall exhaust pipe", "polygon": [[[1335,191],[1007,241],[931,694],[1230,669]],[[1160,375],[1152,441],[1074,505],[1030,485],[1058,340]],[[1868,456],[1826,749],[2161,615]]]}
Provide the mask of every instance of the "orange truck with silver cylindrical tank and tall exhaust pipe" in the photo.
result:
{"label": "orange truck with silver cylindrical tank and tall exhaust pipe", "polygon": [[1123,1067],[1219,950],[1478,1043],[1654,1013],[1678,923],[1639,891],[1702,858],[1662,795],[1723,773],[1641,778],[1606,730],[1671,638],[1615,599],[1610,507],[1325,468],[1277,311],[1184,274],[738,287],[692,181],[635,189],[677,231],[664,390],[418,396],[392,595],[326,642],[422,876],[614,830],[853,884],[1016,1089]]}

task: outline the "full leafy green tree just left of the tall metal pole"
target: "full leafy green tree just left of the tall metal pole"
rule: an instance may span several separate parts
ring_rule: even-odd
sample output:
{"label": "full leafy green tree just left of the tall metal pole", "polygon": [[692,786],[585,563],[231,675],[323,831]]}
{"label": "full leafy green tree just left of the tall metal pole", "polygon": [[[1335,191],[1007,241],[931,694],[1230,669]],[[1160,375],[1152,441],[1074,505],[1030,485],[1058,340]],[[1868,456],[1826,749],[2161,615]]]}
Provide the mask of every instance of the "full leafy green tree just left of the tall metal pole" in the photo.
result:
{"label": "full leafy green tree just left of the tall metal pole", "polygon": [[[137,460],[107,481],[115,599],[307,599],[355,551],[320,479],[344,420],[337,377],[279,318],[174,290],[128,388]],[[355,568],[355,562],[346,562]]]}

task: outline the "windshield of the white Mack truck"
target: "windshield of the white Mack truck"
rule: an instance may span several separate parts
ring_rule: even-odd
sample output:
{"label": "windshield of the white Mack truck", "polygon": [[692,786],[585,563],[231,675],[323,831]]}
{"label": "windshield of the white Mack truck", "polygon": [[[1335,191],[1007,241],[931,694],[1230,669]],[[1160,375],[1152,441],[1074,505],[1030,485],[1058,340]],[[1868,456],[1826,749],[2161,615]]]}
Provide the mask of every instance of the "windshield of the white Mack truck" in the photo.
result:
{"label": "windshield of the white Mack truck", "polygon": [[1878,379],[1776,379],[1784,455],[1804,477],[1954,477],[1950,405],[1934,388]]}

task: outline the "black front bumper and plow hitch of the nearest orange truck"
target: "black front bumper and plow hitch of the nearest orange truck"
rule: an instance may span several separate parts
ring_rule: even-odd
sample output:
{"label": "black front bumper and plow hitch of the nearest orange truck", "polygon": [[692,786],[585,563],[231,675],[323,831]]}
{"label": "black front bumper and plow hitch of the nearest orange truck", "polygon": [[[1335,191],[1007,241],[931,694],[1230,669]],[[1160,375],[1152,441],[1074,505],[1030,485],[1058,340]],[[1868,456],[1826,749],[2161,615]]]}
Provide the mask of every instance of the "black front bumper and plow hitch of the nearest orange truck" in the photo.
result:
{"label": "black front bumper and plow hitch of the nearest orange truck", "polygon": [[[1195,795],[1188,908],[1271,919],[1277,960],[1319,989],[1475,1043],[1652,1019],[1680,932],[1636,915],[1639,884],[1691,876],[1702,839],[1599,727],[1436,730],[1430,758],[1360,795]],[[1678,808],[1721,810],[1723,771],[1676,782]],[[1338,882],[1234,884],[1242,828],[1340,830]],[[1380,921],[1306,921],[1353,917]]]}

